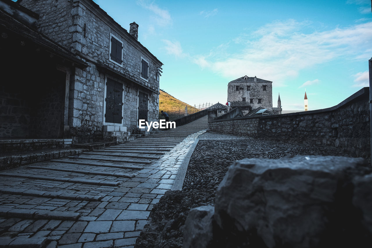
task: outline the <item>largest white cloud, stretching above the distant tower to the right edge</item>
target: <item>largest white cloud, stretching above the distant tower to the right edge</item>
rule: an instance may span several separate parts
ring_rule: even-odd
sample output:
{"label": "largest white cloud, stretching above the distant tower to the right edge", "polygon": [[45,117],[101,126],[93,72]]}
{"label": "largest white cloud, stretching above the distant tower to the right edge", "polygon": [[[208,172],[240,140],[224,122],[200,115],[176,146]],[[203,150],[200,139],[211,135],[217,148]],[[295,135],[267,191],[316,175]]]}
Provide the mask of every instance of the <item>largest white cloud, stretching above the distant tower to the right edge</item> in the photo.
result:
{"label": "largest white cloud, stretching above the distant tower to the right edge", "polygon": [[309,30],[311,23],[276,21],[233,38],[241,46],[236,53],[220,53],[217,47],[195,56],[194,62],[227,78],[256,75],[278,86],[302,69],[340,57],[360,59],[371,49],[372,22],[307,34],[301,28]]}

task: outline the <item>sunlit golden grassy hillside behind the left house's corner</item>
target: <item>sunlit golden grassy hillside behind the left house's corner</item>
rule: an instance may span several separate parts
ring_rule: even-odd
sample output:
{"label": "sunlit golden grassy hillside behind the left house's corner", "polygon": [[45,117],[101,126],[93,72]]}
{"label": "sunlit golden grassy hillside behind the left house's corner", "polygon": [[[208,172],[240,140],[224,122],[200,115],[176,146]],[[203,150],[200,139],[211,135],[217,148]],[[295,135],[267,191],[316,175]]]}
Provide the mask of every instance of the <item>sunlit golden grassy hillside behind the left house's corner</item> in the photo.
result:
{"label": "sunlit golden grassy hillside behind the left house's corner", "polygon": [[192,114],[198,111],[197,108],[180,101],[169,95],[167,92],[160,90],[159,95],[159,119],[164,119],[161,116],[161,110],[169,114],[169,120],[174,120],[185,115],[185,106],[187,106],[188,114]]}

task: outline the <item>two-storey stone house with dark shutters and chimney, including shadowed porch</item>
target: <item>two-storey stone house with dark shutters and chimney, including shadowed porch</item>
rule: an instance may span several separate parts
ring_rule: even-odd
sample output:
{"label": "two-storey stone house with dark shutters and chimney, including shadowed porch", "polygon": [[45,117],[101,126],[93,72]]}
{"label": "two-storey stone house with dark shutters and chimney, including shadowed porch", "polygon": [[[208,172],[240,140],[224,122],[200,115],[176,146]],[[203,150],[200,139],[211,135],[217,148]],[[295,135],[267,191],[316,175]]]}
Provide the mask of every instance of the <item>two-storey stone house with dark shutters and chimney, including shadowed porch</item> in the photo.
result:
{"label": "two-storey stone house with dark shutters and chimney, including shadowed porch", "polygon": [[[36,111],[33,115],[39,120],[33,124],[26,117],[20,128],[25,131],[21,132],[0,128],[0,137],[71,138],[73,143],[104,138],[121,141],[128,132],[137,131],[138,119],[157,120],[162,63],[138,42],[137,23],[131,23],[128,32],[92,0],[0,1],[28,12],[33,17],[33,26],[26,25],[30,32],[45,37],[68,55],[68,59],[55,61],[58,56],[51,53],[40,63],[34,48],[27,43],[22,47],[33,51],[31,59],[26,58],[30,66],[26,70],[33,77],[24,80],[23,75],[17,75],[14,84],[1,91],[32,91],[8,94],[3,101],[14,109],[26,104],[26,98],[39,99],[37,106],[7,112],[10,120],[19,112]],[[34,58],[37,63],[32,63]],[[32,128],[39,132],[32,133]]]}

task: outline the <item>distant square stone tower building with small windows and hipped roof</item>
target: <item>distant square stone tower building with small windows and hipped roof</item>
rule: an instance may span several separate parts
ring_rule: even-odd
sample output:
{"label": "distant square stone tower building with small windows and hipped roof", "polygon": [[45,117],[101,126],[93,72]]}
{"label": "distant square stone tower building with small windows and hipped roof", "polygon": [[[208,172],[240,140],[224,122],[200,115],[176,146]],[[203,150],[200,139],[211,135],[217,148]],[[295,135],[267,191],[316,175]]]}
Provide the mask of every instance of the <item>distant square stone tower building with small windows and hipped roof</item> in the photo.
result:
{"label": "distant square stone tower building with small windows and hipped roof", "polygon": [[256,76],[243,76],[228,83],[227,101],[231,102],[232,108],[240,107],[244,114],[264,108],[274,114],[282,113],[280,96],[278,108],[273,108],[272,82]]}

